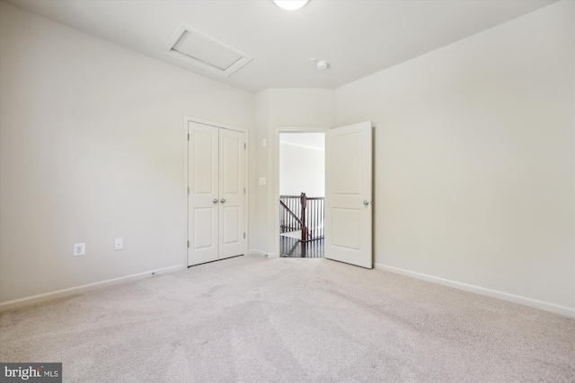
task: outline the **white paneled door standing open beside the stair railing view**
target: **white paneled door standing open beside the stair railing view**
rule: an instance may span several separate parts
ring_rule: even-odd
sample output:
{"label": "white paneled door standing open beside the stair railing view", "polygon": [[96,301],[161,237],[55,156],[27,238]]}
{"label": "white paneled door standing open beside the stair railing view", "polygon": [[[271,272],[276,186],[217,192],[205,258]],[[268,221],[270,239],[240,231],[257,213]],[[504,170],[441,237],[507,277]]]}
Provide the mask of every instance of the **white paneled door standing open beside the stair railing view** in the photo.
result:
{"label": "white paneled door standing open beside the stair railing view", "polygon": [[325,134],[325,257],[372,268],[371,121]]}

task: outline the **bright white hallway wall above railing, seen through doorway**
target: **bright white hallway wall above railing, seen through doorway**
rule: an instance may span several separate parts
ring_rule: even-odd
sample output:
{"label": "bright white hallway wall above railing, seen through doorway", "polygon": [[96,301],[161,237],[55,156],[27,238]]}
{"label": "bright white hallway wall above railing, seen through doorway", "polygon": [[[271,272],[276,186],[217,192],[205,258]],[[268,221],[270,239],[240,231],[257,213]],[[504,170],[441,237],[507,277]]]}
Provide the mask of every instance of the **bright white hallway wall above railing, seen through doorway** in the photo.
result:
{"label": "bright white hallway wall above railing, seen through doorway", "polygon": [[325,196],[325,134],[279,135],[279,195]]}

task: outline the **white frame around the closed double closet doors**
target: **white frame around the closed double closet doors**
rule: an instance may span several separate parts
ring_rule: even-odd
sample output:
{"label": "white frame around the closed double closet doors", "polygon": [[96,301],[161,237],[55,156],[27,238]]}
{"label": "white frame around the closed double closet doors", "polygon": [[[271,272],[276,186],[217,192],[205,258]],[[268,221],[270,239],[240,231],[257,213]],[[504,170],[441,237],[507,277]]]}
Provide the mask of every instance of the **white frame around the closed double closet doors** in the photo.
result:
{"label": "white frame around the closed double closet doors", "polygon": [[190,206],[189,206],[189,200],[188,200],[188,186],[190,185],[190,179],[188,179],[189,177],[189,173],[188,173],[188,161],[189,161],[189,154],[190,154],[190,142],[188,141],[188,126],[190,122],[194,122],[197,124],[202,124],[202,125],[208,125],[208,126],[215,126],[218,128],[224,128],[224,129],[229,129],[229,130],[234,130],[236,132],[242,132],[243,133],[243,137],[244,137],[244,143],[245,143],[245,150],[243,151],[243,166],[244,166],[244,171],[243,171],[243,185],[245,187],[245,194],[243,195],[243,206],[244,206],[244,210],[243,210],[243,228],[245,230],[245,239],[243,240],[243,255],[247,255],[248,254],[248,238],[249,237],[249,232],[248,232],[248,215],[249,215],[249,206],[248,206],[248,202],[250,200],[249,195],[250,195],[250,185],[248,183],[249,177],[248,177],[248,172],[249,172],[249,164],[248,164],[248,159],[249,159],[249,155],[248,155],[248,151],[250,149],[250,144],[248,143],[248,130],[243,128],[243,127],[239,127],[239,126],[232,126],[232,125],[228,125],[228,124],[222,124],[219,122],[214,122],[214,121],[209,121],[207,119],[203,119],[203,118],[195,118],[195,117],[190,117],[190,116],[184,116],[183,118],[183,135],[182,135],[182,142],[183,142],[183,185],[182,185],[182,195],[183,195],[183,206],[184,206],[184,213],[183,213],[183,227],[184,227],[184,231],[185,231],[185,235],[184,235],[184,240],[182,243],[183,246],[183,254],[184,254],[184,264],[186,265],[186,267],[190,267],[188,266],[188,243],[190,241],[190,238],[188,237],[188,233],[190,232],[190,217],[189,217],[189,211],[190,211]]}

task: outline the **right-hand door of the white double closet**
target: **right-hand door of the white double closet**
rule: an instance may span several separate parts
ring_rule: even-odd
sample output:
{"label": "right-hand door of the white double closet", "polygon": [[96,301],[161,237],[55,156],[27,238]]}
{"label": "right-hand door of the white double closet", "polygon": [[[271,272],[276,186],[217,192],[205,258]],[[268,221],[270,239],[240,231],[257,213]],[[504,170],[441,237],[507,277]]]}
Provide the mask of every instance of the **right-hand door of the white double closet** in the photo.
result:
{"label": "right-hand door of the white double closet", "polygon": [[219,258],[243,254],[244,138],[234,130],[219,130]]}

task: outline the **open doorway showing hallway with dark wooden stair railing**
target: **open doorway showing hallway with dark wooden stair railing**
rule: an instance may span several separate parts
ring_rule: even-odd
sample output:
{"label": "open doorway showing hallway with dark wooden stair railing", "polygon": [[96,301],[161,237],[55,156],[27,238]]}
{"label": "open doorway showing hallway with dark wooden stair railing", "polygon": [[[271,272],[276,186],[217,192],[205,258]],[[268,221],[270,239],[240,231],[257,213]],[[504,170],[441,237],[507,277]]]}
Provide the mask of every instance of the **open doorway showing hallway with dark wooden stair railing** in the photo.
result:
{"label": "open doorway showing hallway with dark wooden stair railing", "polygon": [[279,256],[323,257],[325,134],[279,133]]}

